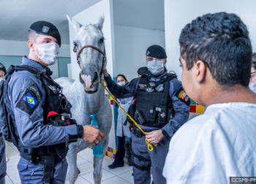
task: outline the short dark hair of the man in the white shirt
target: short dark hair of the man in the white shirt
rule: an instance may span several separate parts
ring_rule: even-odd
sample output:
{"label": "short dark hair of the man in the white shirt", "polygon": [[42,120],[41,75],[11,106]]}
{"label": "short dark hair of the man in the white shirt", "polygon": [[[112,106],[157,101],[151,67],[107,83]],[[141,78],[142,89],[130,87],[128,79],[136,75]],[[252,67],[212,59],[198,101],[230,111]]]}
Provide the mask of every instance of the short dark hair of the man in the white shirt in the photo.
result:
{"label": "short dark hair of the man in the white shirt", "polygon": [[236,14],[206,14],[187,24],[179,37],[187,69],[203,61],[219,85],[249,85],[252,45],[246,25]]}

